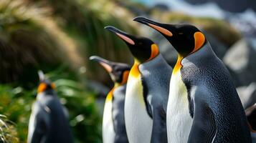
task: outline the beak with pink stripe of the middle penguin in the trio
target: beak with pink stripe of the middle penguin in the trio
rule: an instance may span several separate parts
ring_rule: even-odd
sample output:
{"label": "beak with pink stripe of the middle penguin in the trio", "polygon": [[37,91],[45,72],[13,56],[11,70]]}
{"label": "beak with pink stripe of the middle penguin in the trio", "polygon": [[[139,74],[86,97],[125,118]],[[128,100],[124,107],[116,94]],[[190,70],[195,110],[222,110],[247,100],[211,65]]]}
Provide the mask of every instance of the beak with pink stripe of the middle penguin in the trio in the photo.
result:
{"label": "beak with pink stripe of the middle penguin in the trio", "polygon": [[131,36],[129,34],[126,34],[124,31],[120,31],[119,29],[116,29],[113,26],[105,26],[104,29],[108,29],[109,31],[112,31],[114,34],[118,35],[123,41],[127,42],[128,44],[135,45],[136,39],[134,36]]}

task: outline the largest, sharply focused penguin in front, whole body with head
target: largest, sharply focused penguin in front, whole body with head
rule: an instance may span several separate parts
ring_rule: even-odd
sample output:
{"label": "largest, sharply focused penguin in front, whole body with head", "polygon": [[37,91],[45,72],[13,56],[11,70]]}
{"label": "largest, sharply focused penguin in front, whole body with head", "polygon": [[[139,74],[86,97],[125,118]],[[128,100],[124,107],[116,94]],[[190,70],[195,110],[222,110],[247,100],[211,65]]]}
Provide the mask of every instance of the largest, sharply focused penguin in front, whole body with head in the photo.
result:
{"label": "largest, sharply focused penguin in front, whole body with head", "polygon": [[133,19],[159,31],[178,51],[167,106],[169,142],[251,142],[245,111],[226,66],[191,24]]}

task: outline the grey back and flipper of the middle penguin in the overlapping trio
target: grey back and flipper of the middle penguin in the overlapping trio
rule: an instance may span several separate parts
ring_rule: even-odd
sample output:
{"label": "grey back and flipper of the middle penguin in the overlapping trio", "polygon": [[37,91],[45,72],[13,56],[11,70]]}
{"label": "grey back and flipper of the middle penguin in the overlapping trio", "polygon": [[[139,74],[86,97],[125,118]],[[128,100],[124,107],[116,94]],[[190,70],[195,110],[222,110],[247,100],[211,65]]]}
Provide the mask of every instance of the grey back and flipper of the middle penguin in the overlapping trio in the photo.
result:
{"label": "grey back and flipper of the middle penguin in the overlapping trio", "polygon": [[[172,68],[158,54],[154,59],[139,66],[144,94],[151,107],[153,129],[151,142],[166,142],[166,108]],[[146,92],[146,93],[145,93]]]}

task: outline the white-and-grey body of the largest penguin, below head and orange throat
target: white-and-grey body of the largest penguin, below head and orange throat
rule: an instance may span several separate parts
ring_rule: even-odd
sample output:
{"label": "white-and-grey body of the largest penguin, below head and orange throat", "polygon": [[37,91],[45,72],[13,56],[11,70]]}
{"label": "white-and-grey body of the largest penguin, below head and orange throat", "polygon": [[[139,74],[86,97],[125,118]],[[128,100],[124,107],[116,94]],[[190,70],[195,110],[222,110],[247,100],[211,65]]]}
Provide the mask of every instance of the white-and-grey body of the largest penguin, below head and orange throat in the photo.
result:
{"label": "white-and-grey body of the largest penguin, below head and orange throat", "polygon": [[[232,87],[231,77],[209,44],[184,58],[181,64],[183,66],[180,71],[172,74],[170,85],[170,88],[174,89],[177,84],[182,84],[178,87],[181,92],[170,92],[167,115],[169,140],[250,142],[244,112],[242,106],[237,106],[241,102]],[[175,97],[180,100],[174,99]],[[181,101],[182,97],[186,103],[176,105],[174,101]],[[176,109],[182,105],[184,111]],[[175,110],[183,115],[180,116]],[[185,134],[183,140],[182,134]],[[199,134],[202,134],[202,137],[198,137]]]}

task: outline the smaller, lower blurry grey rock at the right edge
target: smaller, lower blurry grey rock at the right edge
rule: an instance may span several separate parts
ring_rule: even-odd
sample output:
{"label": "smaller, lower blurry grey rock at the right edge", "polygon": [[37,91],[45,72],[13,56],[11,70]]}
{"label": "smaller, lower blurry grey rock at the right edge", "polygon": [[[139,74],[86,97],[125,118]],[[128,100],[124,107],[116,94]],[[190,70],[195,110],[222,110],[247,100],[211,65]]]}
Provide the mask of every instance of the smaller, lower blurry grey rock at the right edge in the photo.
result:
{"label": "smaller, lower blurry grey rock at the right edge", "polygon": [[237,87],[237,93],[242,102],[244,109],[251,107],[256,103],[256,83],[253,82],[249,86]]}

